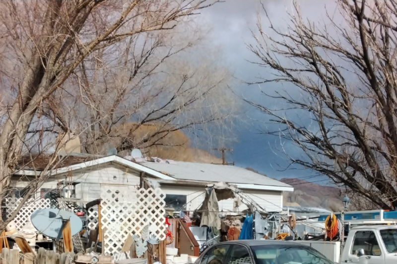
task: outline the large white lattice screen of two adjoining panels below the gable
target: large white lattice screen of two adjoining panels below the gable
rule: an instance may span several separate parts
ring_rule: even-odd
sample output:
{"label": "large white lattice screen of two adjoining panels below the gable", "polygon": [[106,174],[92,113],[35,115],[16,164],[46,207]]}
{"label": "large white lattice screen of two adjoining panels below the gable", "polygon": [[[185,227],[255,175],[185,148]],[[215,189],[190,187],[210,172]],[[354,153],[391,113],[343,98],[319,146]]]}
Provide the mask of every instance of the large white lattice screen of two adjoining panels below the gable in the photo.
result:
{"label": "large white lattice screen of two adjoining panels below the gable", "polygon": [[159,240],[165,239],[165,194],[161,189],[135,191],[130,188],[101,185],[105,254],[119,253],[128,234],[140,236],[147,224]]}

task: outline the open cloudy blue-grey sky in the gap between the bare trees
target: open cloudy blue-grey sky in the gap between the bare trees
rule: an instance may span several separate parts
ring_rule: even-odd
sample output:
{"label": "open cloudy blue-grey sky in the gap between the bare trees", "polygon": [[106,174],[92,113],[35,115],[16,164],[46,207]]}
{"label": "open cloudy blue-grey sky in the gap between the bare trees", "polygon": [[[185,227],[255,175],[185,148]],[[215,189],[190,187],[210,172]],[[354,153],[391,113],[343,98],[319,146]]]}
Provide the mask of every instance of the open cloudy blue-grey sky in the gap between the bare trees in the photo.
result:
{"label": "open cloudy blue-grey sky in the gap between the bare trees", "polygon": [[[285,29],[287,25],[287,11],[293,12],[291,0],[262,0],[266,11],[275,27]],[[311,21],[319,21],[325,17],[325,8],[328,12],[335,10],[335,5],[327,0],[300,0],[303,16]],[[326,6],[327,4],[327,6]],[[250,51],[246,48],[248,43],[254,43],[250,30],[256,31],[257,12],[261,9],[260,0],[226,0],[215,6],[203,10],[199,21],[209,24],[212,31],[208,36],[211,44],[219,48],[221,55],[234,72],[236,79],[255,81],[258,76],[264,76],[263,68],[259,68],[247,62],[255,60]],[[268,22],[264,18],[264,28],[268,28]],[[269,34],[271,32],[269,31]],[[272,102],[260,95],[260,89],[271,91],[282,89],[282,84],[267,84],[266,86],[248,86],[241,82],[236,85],[236,93],[246,98],[255,98],[266,106],[277,107]],[[299,91],[296,91],[299,94]],[[280,153],[280,140],[276,137],[260,134],[258,128],[265,128],[261,121],[265,120],[258,111],[245,106],[242,121],[235,128],[239,142],[231,144],[233,154],[227,155],[228,161],[235,161],[236,165],[251,167],[270,177],[277,179],[283,177],[302,177],[320,184],[327,184],[327,181],[318,182],[324,178],[311,177],[313,172],[308,170],[283,170],[288,162]],[[283,143],[283,148],[288,150],[290,155],[299,155],[299,150],[289,143]]]}

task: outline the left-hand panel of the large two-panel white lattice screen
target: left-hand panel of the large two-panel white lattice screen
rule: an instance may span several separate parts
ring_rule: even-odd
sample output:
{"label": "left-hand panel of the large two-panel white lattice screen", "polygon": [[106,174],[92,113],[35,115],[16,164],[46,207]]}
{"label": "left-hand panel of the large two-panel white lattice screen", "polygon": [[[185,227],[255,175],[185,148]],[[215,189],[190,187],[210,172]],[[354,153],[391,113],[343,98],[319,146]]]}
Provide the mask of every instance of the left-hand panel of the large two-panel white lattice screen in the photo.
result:
{"label": "left-hand panel of the large two-panel white lattice screen", "polygon": [[101,199],[102,229],[106,229],[105,255],[118,254],[123,248],[127,235],[133,230],[131,216],[135,201],[132,200],[128,186],[101,185]]}

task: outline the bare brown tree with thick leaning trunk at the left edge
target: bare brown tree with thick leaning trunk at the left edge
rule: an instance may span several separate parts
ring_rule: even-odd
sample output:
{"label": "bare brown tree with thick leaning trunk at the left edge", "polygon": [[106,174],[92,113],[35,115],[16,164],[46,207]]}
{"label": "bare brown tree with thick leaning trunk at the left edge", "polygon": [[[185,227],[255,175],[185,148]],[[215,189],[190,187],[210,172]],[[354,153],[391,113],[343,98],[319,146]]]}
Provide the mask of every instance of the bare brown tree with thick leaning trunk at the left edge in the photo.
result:
{"label": "bare brown tree with thick leaning trunk at the left edge", "polygon": [[[97,76],[93,74],[95,69],[87,68],[87,65],[101,67],[103,58],[128,57],[129,52],[125,49],[142,45],[140,36],[177,29],[197,10],[218,1],[1,1],[0,201],[7,195],[11,175],[17,169],[32,165],[32,148],[43,151],[48,145],[45,132],[61,128],[63,131],[58,132],[80,135],[87,131],[87,126],[83,129],[74,126],[71,130],[70,123],[66,121],[72,120],[62,119],[65,115],[57,114],[57,110],[63,109],[57,109],[56,105],[61,93],[70,96],[67,100],[79,100],[69,89],[77,81],[81,89],[80,101],[91,104],[95,109],[95,101],[89,101],[92,93],[95,93],[95,85],[85,82],[93,81]],[[122,53],[116,53],[123,50]],[[109,55],[112,53],[113,57]],[[142,54],[140,57],[144,59],[145,56]],[[84,74],[87,77],[82,78]],[[101,84],[100,89],[103,87]],[[106,96],[120,97],[123,92],[122,85],[120,87],[120,90]],[[48,112],[48,109],[52,111]],[[112,125],[113,122],[112,118],[94,120],[89,125],[100,126],[101,129],[106,129],[106,125]],[[37,174],[32,183],[36,187],[61,162],[57,156],[60,145],[56,146],[46,168]],[[24,156],[30,156],[30,159],[17,167]],[[31,188],[26,193],[14,214],[33,192],[35,190]],[[0,229],[11,219],[12,216],[2,223]]]}

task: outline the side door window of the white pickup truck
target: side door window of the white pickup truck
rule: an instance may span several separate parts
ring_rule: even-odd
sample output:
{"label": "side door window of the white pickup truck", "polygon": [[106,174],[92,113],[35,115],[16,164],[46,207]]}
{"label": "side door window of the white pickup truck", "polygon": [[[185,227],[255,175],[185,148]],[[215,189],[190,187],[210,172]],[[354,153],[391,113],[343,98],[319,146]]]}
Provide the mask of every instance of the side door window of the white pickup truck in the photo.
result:
{"label": "side door window of the white pickup truck", "polygon": [[351,254],[357,255],[359,249],[364,250],[365,256],[381,256],[381,249],[375,233],[372,231],[357,231],[354,236]]}

